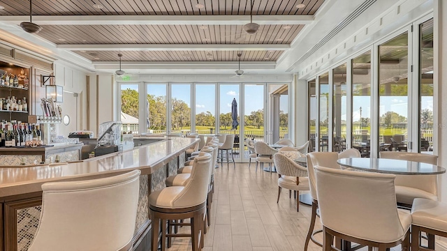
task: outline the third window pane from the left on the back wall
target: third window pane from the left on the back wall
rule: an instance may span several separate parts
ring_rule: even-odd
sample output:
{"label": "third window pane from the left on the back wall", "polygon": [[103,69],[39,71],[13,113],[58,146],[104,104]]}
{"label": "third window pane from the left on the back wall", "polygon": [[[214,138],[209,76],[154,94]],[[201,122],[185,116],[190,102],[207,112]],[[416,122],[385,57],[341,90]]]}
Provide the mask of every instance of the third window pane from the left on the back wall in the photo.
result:
{"label": "third window pane from the left on the back wall", "polygon": [[186,135],[191,131],[191,84],[171,86],[171,132]]}

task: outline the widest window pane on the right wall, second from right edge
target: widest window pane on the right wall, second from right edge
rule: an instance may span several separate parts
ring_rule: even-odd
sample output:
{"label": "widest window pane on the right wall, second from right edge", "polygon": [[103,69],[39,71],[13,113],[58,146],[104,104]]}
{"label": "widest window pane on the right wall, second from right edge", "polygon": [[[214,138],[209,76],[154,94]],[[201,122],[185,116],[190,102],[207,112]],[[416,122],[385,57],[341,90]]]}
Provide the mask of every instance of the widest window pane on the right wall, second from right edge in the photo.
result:
{"label": "widest window pane on the right wall, second from right edge", "polygon": [[408,32],[379,45],[379,150],[406,151]]}

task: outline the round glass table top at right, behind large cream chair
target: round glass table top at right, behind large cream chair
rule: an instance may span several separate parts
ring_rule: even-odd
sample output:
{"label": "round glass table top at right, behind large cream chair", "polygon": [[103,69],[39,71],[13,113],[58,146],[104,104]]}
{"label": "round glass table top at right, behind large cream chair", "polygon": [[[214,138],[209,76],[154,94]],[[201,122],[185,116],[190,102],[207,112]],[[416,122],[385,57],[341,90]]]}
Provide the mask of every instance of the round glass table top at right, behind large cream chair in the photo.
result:
{"label": "round glass table top at right, behind large cream chair", "polygon": [[444,167],[437,165],[383,158],[342,158],[337,160],[337,163],[342,167],[383,174],[428,175],[444,174],[446,172]]}

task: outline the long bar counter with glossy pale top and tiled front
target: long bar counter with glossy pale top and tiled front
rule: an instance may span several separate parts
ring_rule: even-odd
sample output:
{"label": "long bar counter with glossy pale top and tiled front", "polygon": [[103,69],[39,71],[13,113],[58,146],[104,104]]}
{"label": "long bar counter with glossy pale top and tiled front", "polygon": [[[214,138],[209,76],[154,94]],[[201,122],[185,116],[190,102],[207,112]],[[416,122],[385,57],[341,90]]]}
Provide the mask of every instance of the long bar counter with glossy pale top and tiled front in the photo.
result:
{"label": "long bar counter with glossy pale top and tiled front", "polygon": [[134,169],[140,169],[142,175],[133,244],[135,250],[144,250],[150,244],[148,196],[163,188],[168,176],[177,174],[177,169],[184,163],[184,152],[198,141],[181,137],[160,138],[158,142],[129,151],[79,162],[0,168],[0,233],[3,236],[0,250],[28,249],[41,214],[43,183],[103,178]]}

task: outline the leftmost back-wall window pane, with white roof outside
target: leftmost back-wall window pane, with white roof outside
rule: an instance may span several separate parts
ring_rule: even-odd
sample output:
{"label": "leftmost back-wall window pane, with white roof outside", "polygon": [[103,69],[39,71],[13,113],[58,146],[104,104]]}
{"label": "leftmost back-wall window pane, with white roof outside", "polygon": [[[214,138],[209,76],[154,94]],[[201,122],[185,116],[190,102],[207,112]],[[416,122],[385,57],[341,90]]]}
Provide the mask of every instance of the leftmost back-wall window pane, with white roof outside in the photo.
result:
{"label": "leftmost back-wall window pane, with white roof outside", "polygon": [[138,104],[138,84],[122,84],[119,116],[123,123],[123,132],[138,133]]}

